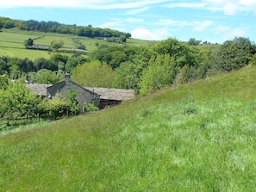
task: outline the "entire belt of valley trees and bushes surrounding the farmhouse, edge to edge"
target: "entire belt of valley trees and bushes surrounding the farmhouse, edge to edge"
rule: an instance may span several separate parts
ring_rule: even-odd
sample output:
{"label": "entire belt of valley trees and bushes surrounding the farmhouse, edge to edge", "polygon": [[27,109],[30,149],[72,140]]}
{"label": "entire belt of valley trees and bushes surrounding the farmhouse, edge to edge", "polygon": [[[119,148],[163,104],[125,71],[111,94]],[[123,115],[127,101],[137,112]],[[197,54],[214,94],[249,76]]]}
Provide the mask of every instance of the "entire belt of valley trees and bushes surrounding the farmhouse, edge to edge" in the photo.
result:
{"label": "entire belt of valley trees and bushes surrounding the farmhouse, edge to edge", "polygon": [[[59,53],[50,59],[34,61],[1,57],[0,116],[36,111],[56,115],[65,110],[76,111],[73,93],[68,98],[57,97],[34,103],[38,100],[24,87],[27,74],[30,82],[56,84],[63,79],[64,72],[71,72],[72,80],[84,87],[133,89],[136,94],[147,95],[172,84],[237,70],[250,63],[256,65],[256,46],[244,37],[227,40],[222,45],[195,46],[174,38],[148,47],[100,45],[89,53],[88,58],[67,57]],[[9,83],[10,77],[15,77],[15,82],[23,80],[20,84],[13,84]],[[36,110],[31,111],[34,106],[37,106]]]}

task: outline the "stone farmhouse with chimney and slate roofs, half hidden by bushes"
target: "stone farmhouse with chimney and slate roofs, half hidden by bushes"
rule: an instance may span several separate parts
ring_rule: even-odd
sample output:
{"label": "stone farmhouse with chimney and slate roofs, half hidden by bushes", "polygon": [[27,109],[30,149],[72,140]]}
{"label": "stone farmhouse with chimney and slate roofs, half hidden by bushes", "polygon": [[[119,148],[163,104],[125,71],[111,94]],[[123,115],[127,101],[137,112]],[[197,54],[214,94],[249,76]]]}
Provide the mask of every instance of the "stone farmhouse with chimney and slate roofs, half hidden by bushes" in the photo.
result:
{"label": "stone farmhouse with chimney and slate roofs, half hidden by bushes", "polygon": [[84,102],[103,109],[134,99],[134,90],[82,87],[71,80],[70,74],[66,74],[65,80],[58,84],[27,84],[27,86],[41,98],[53,98],[56,94],[66,97],[70,90],[75,91],[81,110],[84,108]]}

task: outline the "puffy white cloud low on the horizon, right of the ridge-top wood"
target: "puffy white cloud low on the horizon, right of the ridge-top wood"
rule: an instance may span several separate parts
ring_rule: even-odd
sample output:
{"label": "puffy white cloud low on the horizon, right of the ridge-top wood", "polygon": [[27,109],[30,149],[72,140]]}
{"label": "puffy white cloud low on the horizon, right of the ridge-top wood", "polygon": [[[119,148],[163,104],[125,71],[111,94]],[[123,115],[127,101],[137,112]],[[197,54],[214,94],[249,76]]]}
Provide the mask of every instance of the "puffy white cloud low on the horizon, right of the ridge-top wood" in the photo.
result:
{"label": "puffy white cloud low on the horizon, right of the ridge-top wood", "polygon": [[171,36],[167,28],[158,28],[153,30],[149,30],[147,28],[135,28],[131,34],[134,39],[140,40],[165,40]]}

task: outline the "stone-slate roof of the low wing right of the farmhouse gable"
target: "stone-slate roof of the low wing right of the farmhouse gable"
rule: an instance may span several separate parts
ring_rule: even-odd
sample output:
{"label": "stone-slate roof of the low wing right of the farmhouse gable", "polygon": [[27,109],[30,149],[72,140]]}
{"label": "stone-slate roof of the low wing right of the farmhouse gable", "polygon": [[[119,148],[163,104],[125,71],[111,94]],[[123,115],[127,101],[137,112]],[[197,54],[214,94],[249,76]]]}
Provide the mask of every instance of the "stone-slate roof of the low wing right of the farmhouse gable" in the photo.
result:
{"label": "stone-slate roof of the low wing right of the farmhouse gable", "polygon": [[126,101],[134,98],[134,90],[109,89],[109,88],[91,88],[85,87],[87,90],[100,95],[101,99]]}

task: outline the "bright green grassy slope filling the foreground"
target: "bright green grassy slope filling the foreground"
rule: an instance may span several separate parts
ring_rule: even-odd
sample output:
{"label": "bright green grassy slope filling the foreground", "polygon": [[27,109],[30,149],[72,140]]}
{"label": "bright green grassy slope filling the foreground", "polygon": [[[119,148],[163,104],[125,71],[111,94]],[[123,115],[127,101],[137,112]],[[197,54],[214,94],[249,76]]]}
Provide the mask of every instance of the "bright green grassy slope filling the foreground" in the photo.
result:
{"label": "bright green grassy slope filling the foreground", "polygon": [[256,67],[0,136],[0,191],[253,191]]}

